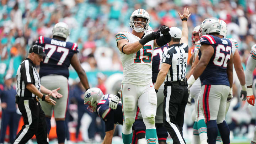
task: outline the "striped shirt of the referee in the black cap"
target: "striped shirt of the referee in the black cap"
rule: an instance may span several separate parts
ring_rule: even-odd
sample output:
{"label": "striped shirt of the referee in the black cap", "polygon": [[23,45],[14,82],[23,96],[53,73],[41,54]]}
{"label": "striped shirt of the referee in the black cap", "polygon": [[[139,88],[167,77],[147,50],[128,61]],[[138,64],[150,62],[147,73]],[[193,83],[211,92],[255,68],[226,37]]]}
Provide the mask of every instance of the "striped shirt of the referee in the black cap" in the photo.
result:
{"label": "striped shirt of the referee in the black cap", "polygon": [[36,67],[31,59],[26,58],[17,70],[17,95],[20,97],[35,97],[26,88],[27,84],[33,84],[40,91],[40,78]]}

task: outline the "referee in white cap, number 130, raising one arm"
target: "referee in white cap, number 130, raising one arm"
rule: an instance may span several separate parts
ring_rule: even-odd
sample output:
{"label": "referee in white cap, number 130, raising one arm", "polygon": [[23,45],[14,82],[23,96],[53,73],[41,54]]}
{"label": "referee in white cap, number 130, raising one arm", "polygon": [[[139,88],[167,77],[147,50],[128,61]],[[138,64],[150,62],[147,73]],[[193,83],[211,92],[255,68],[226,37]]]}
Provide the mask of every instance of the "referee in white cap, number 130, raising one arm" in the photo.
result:
{"label": "referee in white cap, number 130, raising one arm", "polygon": [[186,144],[182,137],[184,112],[188,101],[188,89],[186,76],[186,64],[188,58],[188,28],[187,18],[189,9],[184,8],[180,15],[182,31],[177,27],[170,28],[171,42],[169,48],[162,55],[162,66],[156,79],[155,91],[165,80],[163,121],[169,132],[173,144]]}

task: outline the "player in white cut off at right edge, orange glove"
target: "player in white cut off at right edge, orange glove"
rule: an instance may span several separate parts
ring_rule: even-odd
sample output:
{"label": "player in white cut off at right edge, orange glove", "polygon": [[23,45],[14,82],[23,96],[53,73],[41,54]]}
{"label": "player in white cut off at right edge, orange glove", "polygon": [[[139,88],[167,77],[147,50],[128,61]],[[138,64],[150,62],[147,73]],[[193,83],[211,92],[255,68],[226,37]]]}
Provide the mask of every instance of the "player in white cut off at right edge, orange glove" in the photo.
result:
{"label": "player in white cut off at right edge, orange glove", "polygon": [[[252,80],[253,75],[252,72],[256,67],[256,44],[251,48],[251,56],[247,60],[246,64],[246,86],[247,86],[247,102],[254,106],[255,97],[252,90]],[[251,140],[251,144],[256,144],[256,127],[254,128],[254,137]]]}

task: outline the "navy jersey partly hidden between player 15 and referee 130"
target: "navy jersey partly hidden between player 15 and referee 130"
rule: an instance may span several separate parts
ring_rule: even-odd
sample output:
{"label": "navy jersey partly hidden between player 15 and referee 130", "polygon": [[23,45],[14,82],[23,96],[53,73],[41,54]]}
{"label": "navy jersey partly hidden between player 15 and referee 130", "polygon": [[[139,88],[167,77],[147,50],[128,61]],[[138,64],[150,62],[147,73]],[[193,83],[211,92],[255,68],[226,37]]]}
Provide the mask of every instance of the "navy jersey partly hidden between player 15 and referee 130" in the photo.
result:
{"label": "navy jersey partly hidden between player 15 and referee 130", "polygon": [[152,81],[153,83],[156,82],[157,75],[161,69],[162,65],[162,54],[164,50],[168,48],[168,44],[165,44],[162,47],[157,47],[154,49],[153,52],[153,59],[152,59]]}

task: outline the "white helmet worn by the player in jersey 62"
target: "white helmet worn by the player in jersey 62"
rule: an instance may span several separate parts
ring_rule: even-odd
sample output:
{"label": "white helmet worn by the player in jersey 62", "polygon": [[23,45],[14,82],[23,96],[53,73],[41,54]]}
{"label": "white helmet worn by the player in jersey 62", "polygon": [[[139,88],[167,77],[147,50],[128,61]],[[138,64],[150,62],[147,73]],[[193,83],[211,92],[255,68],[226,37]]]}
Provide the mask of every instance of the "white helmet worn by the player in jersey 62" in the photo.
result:
{"label": "white helmet worn by the player in jersey 62", "polygon": [[220,23],[214,18],[207,18],[200,25],[200,37],[209,33],[220,33]]}

